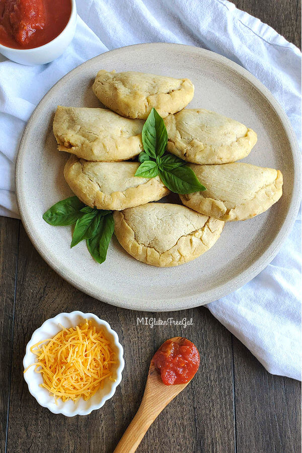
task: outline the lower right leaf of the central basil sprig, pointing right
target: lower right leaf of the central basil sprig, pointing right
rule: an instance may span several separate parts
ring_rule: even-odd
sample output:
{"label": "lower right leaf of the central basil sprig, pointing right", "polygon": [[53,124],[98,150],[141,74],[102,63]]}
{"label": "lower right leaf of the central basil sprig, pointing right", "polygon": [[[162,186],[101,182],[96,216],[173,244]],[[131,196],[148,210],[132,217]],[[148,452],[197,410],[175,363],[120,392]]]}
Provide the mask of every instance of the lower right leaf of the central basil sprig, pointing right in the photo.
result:
{"label": "lower right leaf of the central basil sprig, pointing right", "polygon": [[160,171],[160,177],[165,186],[175,193],[186,194],[206,190],[190,167],[182,166],[169,171]]}

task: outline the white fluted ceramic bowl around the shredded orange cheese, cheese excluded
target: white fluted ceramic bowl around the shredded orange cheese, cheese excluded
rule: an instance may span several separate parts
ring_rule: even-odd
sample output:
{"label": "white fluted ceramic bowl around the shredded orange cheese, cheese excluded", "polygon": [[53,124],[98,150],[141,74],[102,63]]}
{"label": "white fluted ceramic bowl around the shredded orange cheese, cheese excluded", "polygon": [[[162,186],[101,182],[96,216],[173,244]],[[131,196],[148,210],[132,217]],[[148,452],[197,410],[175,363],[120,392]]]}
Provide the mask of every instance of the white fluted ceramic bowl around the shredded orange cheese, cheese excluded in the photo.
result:
{"label": "white fluted ceramic bowl around the shredded orange cheese, cheese excluded", "polygon": [[59,324],[69,329],[75,327],[80,323],[85,322],[85,319],[91,321],[92,324],[98,328],[102,328],[106,338],[111,341],[112,348],[116,354],[117,363],[112,365],[113,378],[116,382],[105,380],[104,388],[99,389],[89,400],[85,401],[80,398],[77,403],[73,401],[63,402],[60,398],[57,399],[57,404],[54,402],[53,395],[40,387],[43,383],[41,373],[35,372],[35,366],[31,366],[26,373],[24,373],[24,379],[27,382],[29,392],[33,397],[36,398],[37,402],[47,407],[54,414],[63,414],[66,417],[73,417],[74,415],[88,415],[95,409],[100,409],[107,400],[109,400],[115,393],[115,390],[122,379],[122,370],[124,368],[123,359],[123,348],[119,343],[117,333],[111,329],[106,321],[101,320],[92,313],[82,312],[71,312],[71,313],[60,313],[54,318],[45,321],[39,329],[35,330],[30,341],[26,346],[26,353],[23,359],[24,369],[30,364],[35,363],[37,356],[30,350],[31,346],[38,343],[38,341],[45,340],[46,338],[52,338],[61,329]]}

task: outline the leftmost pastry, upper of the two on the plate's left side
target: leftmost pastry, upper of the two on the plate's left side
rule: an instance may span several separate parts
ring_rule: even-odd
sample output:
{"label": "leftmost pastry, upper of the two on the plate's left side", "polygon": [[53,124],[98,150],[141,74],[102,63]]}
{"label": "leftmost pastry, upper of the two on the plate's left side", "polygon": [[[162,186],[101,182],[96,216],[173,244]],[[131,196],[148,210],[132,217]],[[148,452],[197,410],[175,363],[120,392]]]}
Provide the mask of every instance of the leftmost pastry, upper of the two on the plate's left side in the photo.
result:
{"label": "leftmost pastry, upper of the two on the plate's left side", "polygon": [[60,151],[89,161],[132,159],[142,150],[144,121],[123,118],[107,109],[58,106],[53,133]]}

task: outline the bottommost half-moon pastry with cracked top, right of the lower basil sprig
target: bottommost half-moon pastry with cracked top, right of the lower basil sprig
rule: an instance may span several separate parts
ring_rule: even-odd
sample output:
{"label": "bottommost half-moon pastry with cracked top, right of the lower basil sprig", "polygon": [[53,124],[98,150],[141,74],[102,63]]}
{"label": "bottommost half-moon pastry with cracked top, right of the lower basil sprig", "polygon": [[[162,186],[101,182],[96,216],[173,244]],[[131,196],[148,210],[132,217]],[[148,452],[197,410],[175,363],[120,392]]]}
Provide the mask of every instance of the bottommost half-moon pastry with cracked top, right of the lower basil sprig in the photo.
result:
{"label": "bottommost half-moon pastry with cracked top, right of the lower basil sprig", "polygon": [[224,222],[169,203],[115,211],[114,233],[135,259],[160,267],[178,266],[202,255],[220,236]]}

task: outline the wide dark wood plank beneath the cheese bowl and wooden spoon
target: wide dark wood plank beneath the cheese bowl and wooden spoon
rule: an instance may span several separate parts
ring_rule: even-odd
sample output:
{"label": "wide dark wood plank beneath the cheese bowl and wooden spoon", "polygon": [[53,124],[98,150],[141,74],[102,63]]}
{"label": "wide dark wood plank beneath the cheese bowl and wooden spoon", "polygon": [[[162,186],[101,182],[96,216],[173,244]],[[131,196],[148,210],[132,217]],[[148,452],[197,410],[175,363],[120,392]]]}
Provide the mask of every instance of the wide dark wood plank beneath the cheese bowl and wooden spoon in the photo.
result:
{"label": "wide dark wood plank beneath the cheese bowl and wooden spoon", "polygon": [[[66,418],[41,408],[22,375],[25,345],[34,329],[62,311],[93,312],[117,331],[125,351],[123,380],[103,409],[87,417]],[[192,318],[194,325],[154,329],[137,317]],[[193,453],[235,451],[231,334],[205,308],[151,314],[122,310],[86,296],[58,277],[20,236],[13,378],[8,451],[110,452],[134,416],[144,389],[149,361],[175,335],[188,336],[199,348],[201,365],[192,384],[149,429],[138,451]]]}

